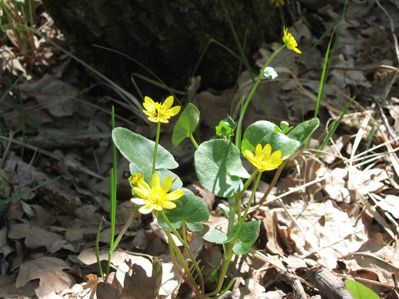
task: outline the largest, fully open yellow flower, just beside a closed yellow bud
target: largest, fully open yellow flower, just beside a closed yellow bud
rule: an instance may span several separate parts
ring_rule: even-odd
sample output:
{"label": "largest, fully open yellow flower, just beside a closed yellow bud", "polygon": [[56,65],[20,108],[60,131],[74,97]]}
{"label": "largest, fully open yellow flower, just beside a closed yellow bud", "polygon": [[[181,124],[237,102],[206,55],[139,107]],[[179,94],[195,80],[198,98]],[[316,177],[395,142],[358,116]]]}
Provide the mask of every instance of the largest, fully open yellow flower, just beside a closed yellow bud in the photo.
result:
{"label": "largest, fully open yellow flower, just beside a closed yellow bud", "polygon": [[168,176],[161,186],[158,174],[154,173],[151,178],[151,187],[144,180],[137,182],[137,187],[134,187],[133,190],[141,198],[132,198],[131,201],[143,204],[139,209],[142,214],[151,213],[152,210],[161,211],[162,209],[176,208],[176,204],[172,200],[182,197],[184,190],[175,190],[168,193],[172,183],[172,176]]}

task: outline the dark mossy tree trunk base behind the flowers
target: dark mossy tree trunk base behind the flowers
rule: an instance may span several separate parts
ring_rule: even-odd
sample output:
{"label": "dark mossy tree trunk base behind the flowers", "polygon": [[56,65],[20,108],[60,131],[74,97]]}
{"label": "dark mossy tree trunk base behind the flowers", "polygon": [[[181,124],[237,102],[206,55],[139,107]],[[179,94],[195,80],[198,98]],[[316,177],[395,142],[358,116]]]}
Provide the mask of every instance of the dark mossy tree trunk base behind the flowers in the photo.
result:
{"label": "dark mossy tree trunk base behind the flowers", "polygon": [[[276,40],[278,11],[268,0],[225,0],[241,43],[248,30],[248,58],[264,41]],[[131,73],[153,78],[152,70],[170,87],[187,85],[200,54],[210,39],[238,53],[222,6],[217,0],[43,0],[79,58],[132,87]],[[250,59],[249,59],[250,60]],[[251,60],[250,60],[251,61]],[[210,43],[196,75],[202,87],[225,88],[236,77],[239,62],[216,43]],[[132,89],[132,88],[131,88]]]}

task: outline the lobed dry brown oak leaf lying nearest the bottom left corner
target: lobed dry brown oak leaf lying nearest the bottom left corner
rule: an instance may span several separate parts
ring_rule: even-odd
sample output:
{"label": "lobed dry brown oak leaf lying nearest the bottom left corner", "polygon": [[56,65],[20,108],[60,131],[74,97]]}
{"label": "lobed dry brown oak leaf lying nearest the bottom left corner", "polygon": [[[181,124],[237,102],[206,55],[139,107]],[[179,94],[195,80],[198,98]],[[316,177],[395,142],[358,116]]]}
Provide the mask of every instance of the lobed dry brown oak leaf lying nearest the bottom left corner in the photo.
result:
{"label": "lobed dry brown oak leaf lying nearest the bottom left corner", "polygon": [[52,292],[59,293],[75,284],[75,280],[63,272],[63,269],[70,267],[63,260],[54,257],[40,257],[23,263],[19,267],[15,287],[20,288],[31,280],[40,279],[39,287],[35,290],[38,298]]}

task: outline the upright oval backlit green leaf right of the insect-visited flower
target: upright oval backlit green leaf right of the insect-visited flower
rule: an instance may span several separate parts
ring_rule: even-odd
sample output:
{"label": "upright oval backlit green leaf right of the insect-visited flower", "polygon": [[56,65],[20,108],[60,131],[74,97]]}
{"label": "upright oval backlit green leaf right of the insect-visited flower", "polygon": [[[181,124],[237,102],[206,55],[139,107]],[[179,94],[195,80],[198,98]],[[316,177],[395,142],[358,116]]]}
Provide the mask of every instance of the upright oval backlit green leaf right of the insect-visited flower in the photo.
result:
{"label": "upright oval backlit green leaf right of the insect-visited flower", "polygon": [[185,138],[190,137],[190,135],[193,134],[197,128],[199,120],[200,111],[194,104],[190,103],[183,110],[176,122],[175,128],[173,129],[172,144],[174,147],[179,146]]}

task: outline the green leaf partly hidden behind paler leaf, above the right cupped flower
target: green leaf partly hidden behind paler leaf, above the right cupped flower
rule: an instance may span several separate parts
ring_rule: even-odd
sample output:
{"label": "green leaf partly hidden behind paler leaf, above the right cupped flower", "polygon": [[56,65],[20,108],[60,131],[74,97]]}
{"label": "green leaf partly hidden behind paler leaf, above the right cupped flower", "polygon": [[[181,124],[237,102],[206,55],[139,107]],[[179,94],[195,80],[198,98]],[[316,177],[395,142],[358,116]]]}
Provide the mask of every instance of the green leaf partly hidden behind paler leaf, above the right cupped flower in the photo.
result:
{"label": "green leaf partly hidden behind paler leaf, above the right cupped flower", "polygon": [[[245,150],[248,149],[251,152],[255,152],[256,146],[260,143],[262,138],[274,132],[276,125],[268,121],[257,121],[250,125],[242,137],[241,152],[244,154]],[[266,144],[262,144],[264,147]],[[273,147],[272,147],[273,149]],[[273,149],[277,150],[277,149]]]}

